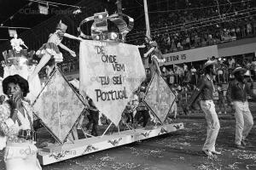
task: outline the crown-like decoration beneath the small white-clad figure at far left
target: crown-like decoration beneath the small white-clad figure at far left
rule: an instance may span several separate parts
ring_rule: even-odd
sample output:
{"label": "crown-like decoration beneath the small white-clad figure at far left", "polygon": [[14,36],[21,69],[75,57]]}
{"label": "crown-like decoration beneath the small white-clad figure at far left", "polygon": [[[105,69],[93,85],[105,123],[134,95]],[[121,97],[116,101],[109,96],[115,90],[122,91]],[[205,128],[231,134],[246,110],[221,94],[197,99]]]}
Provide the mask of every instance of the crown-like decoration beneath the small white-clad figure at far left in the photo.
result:
{"label": "crown-like decoration beneath the small white-clad figure at far left", "polygon": [[35,65],[38,64],[36,59],[33,59],[35,51],[32,50],[27,52],[26,49],[21,49],[18,53],[14,49],[9,49],[9,51],[3,51],[4,60],[1,61],[2,65]]}

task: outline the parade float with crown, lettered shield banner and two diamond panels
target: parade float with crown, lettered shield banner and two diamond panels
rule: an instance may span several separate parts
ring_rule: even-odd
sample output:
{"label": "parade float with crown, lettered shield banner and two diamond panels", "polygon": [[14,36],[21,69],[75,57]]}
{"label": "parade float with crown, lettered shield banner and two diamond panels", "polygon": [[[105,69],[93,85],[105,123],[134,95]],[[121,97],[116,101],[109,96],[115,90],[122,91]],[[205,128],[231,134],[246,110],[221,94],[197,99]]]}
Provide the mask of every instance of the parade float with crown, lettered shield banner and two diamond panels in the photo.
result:
{"label": "parade float with crown, lettered shield banner and two diamond panels", "polygon": [[[125,122],[120,123],[125,106],[146,78],[138,47],[125,43],[125,36],[131,31],[133,22],[125,14],[108,15],[102,12],[80,23],[81,37],[89,37],[90,40],[80,42],[79,93],[55,65],[55,71],[40,89],[38,97],[32,99],[34,115],[42,120],[44,129],[55,139],[54,143],[39,149],[38,160],[42,165],[183,129],[183,123],[164,123],[176,96],[163,77],[156,73],[148,83],[143,99],[156,119],[154,126],[132,127]],[[86,35],[83,26],[90,24],[91,34]],[[115,29],[110,29],[110,25]],[[14,56],[12,52],[5,52],[5,56],[8,65],[4,71],[10,68],[17,70],[20,65],[31,68],[28,63],[20,62],[31,59],[32,53]],[[9,62],[11,59],[15,61]],[[85,96],[89,96],[110,121],[100,136],[84,131],[80,122],[88,114]],[[73,138],[79,127],[82,137]],[[40,138],[44,137],[38,133]]]}

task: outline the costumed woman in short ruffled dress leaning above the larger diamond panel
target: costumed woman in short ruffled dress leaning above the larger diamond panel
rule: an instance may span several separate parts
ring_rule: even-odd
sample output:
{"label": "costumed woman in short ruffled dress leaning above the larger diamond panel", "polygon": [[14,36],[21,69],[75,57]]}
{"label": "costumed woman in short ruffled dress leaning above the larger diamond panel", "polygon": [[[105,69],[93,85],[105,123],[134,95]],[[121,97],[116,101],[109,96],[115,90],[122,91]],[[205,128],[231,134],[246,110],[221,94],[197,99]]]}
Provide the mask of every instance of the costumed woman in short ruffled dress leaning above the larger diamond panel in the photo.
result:
{"label": "costumed woman in short ruffled dress leaning above the larger diamond panel", "polygon": [[[60,63],[63,61],[62,54],[60,52],[60,49],[58,46],[62,49],[65,49],[69,54],[71,54],[73,57],[76,57],[76,54],[73,50],[67,48],[65,45],[61,43],[63,37],[68,37],[74,40],[82,41],[83,39],[81,37],[74,37],[68,33],[67,26],[63,24],[60,20],[59,24],[56,27],[56,31],[49,35],[48,42],[44,43],[44,45],[38,49],[37,55],[40,59],[37,67],[32,72],[32,75],[29,77],[28,81],[30,82],[35,75],[38,74],[39,71],[46,65],[49,61],[49,59],[55,59],[55,63]],[[55,64],[49,65],[47,68],[47,75],[49,77],[50,72],[53,70]]]}

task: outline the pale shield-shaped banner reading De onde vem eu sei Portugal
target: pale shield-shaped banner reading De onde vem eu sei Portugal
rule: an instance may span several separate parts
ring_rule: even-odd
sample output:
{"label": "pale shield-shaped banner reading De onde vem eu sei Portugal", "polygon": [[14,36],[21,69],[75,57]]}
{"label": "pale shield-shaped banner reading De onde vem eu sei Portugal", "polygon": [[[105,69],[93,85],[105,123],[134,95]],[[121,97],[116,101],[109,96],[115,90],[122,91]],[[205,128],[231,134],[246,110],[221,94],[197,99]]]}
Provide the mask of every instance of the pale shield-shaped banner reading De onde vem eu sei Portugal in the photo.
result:
{"label": "pale shield-shaped banner reading De onde vem eu sei Portugal", "polygon": [[132,92],[146,77],[137,46],[84,40],[79,55],[80,93],[118,125]]}

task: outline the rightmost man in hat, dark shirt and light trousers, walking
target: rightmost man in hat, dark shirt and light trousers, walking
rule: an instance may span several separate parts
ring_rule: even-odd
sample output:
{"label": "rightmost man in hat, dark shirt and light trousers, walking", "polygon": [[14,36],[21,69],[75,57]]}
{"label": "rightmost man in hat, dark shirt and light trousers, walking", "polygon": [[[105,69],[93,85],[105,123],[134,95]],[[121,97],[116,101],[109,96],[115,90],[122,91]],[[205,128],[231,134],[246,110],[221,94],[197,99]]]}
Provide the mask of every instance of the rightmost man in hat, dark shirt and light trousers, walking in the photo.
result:
{"label": "rightmost man in hat, dark shirt and light trousers, walking", "polygon": [[244,79],[246,69],[237,66],[232,74],[235,80],[231,81],[227,89],[227,99],[230,105],[236,110],[236,148],[244,149],[247,145],[247,135],[253,127],[253,116],[249,110],[247,102],[247,95],[256,99],[256,94],[253,93],[252,88],[249,87],[247,81]]}

